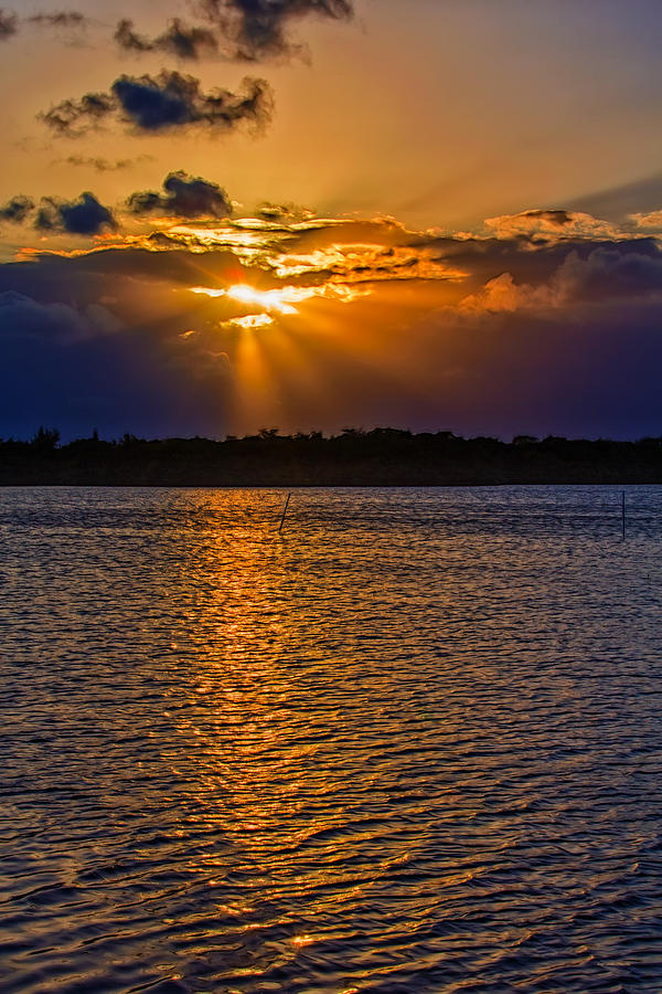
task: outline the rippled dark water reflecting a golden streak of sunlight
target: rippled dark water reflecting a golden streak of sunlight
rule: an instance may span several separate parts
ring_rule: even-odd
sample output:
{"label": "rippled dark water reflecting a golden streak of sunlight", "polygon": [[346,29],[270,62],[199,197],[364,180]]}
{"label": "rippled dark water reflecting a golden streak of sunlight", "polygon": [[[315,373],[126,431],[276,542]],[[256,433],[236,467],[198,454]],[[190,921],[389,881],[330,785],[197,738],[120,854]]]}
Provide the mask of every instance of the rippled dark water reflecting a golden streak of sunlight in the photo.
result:
{"label": "rippled dark water reflecting a golden streak of sunlight", "polygon": [[662,488],[0,489],[0,987],[662,990]]}

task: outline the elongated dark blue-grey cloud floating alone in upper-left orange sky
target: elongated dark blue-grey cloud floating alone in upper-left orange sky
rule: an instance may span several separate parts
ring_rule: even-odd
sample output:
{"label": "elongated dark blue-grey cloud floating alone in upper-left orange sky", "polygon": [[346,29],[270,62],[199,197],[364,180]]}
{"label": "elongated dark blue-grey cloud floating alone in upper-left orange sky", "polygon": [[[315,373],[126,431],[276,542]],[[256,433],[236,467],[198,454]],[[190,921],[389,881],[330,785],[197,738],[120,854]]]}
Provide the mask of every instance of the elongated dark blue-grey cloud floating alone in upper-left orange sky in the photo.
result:
{"label": "elongated dark blue-grey cloud floating alone in upper-left orange sky", "polygon": [[78,136],[110,117],[138,133],[158,134],[190,126],[229,130],[248,123],[258,128],[273,112],[265,80],[246,77],[242,89],[203,93],[200,80],[162,70],[158,76],[119,76],[109,93],[88,93],[56,104],[40,118],[58,135]]}

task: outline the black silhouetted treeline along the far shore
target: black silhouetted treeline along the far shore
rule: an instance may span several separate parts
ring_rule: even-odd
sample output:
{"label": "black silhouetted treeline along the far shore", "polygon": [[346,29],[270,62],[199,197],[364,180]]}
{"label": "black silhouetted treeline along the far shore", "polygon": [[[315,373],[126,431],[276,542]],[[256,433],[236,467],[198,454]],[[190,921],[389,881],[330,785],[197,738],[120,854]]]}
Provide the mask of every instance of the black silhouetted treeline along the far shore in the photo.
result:
{"label": "black silhouetted treeline along the far shore", "polygon": [[494,486],[502,484],[660,484],[662,436],[637,442],[549,435],[463,438],[397,429],[339,435],[60,444],[41,427],[30,442],[0,440],[0,486],[338,487]]}

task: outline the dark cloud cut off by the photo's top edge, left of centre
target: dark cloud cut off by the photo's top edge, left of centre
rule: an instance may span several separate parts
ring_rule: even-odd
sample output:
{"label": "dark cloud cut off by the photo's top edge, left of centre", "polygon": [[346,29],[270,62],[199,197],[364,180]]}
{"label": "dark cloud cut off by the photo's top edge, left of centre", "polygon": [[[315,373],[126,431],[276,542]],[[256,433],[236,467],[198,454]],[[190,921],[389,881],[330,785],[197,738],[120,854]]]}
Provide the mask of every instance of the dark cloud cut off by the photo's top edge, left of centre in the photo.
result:
{"label": "dark cloud cut off by the photo's top edge, left of centre", "polygon": [[353,14],[352,0],[199,0],[197,9],[235,46],[237,57],[250,61],[296,51],[288,39],[293,21]]}

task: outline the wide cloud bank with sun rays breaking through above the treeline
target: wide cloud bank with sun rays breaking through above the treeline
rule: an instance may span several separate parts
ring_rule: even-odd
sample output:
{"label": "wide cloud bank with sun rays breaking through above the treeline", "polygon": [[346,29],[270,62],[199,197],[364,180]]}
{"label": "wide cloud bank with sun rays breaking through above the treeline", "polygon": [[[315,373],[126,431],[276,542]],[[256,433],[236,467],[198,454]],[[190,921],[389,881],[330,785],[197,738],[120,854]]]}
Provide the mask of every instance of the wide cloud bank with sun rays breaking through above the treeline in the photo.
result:
{"label": "wide cloud bank with sun rays breaking through above the treeline", "polygon": [[2,433],[660,434],[658,237],[556,211],[471,236],[232,218],[182,171],[129,207],[141,233],[92,194],[46,199],[49,224],[99,246],[0,265]]}

